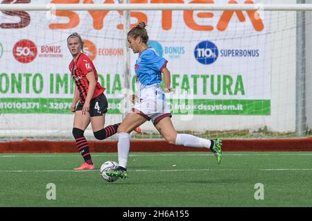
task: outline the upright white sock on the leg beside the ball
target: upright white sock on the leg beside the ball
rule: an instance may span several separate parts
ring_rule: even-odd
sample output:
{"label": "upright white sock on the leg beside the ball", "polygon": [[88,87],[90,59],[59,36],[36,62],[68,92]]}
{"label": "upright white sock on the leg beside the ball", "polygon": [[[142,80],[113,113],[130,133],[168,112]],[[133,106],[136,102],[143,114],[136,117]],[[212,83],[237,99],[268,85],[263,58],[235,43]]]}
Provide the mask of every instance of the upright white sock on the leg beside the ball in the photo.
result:
{"label": "upright white sock on the leg beside the ball", "polygon": [[119,166],[127,168],[128,154],[130,151],[130,134],[118,134],[118,161]]}

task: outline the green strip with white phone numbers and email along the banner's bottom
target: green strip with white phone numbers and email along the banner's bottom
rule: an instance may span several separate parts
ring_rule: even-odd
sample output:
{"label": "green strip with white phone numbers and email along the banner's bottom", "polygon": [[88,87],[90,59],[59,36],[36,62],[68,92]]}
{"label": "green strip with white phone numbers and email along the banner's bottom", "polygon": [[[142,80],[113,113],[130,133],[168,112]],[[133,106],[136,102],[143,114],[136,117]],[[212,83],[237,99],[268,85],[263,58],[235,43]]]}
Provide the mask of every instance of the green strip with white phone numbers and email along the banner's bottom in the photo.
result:
{"label": "green strip with white phone numbers and email along the banner's bottom", "polygon": [[[107,99],[108,114],[123,114],[121,99]],[[71,114],[71,98],[0,98],[0,113]],[[173,114],[269,115],[270,100],[167,100]]]}

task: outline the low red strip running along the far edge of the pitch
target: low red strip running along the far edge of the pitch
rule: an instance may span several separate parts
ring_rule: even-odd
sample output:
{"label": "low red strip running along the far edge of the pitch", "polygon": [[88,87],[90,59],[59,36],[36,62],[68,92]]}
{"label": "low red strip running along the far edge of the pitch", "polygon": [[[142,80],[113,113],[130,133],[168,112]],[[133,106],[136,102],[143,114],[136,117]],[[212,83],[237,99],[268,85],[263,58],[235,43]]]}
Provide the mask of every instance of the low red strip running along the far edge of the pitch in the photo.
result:
{"label": "low red strip running along the far edge of the pitch", "polygon": [[[89,141],[91,152],[117,152],[117,141]],[[312,151],[312,138],[305,139],[224,139],[223,151]],[[166,141],[131,141],[131,152],[207,151],[186,148]],[[78,152],[74,141],[0,142],[0,153]]]}

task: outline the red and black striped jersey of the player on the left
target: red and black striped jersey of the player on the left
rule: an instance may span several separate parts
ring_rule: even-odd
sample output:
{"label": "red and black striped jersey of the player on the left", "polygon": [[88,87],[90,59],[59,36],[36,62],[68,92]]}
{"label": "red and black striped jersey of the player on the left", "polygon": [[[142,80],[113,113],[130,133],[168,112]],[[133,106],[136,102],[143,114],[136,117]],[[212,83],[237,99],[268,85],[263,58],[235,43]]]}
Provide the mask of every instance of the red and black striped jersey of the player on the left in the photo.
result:
{"label": "red and black striped jersey of the player on the left", "polygon": [[87,98],[87,93],[89,89],[89,81],[87,80],[87,73],[93,71],[94,77],[96,78],[96,88],[94,90],[94,94],[92,98],[96,98],[97,96],[103,94],[105,88],[100,85],[98,82],[98,73],[96,72],[96,68],[92,60],[88,58],[84,53],[80,53],[78,58],[72,60],[69,64],[69,70],[71,71],[71,78],[75,80],[76,85],[78,87],[78,91],[80,93],[79,100],[80,103],[85,103],[85,99]]}

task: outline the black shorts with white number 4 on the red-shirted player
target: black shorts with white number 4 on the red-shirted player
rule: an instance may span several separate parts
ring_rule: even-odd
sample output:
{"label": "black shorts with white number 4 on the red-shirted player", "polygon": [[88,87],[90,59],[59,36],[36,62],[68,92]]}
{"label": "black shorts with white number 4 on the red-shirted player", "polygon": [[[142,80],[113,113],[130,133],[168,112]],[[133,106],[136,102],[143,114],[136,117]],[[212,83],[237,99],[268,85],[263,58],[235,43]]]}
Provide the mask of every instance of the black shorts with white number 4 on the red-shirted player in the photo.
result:
{"label": "black shorts with white number 4 on the red-shirted player", "polygon": [[[105,94],[101,94],[90,101],[90,116],[103,116],[107,112],[107,99]],[[78,103],[76,111],[83,110],[83,103]]]}

